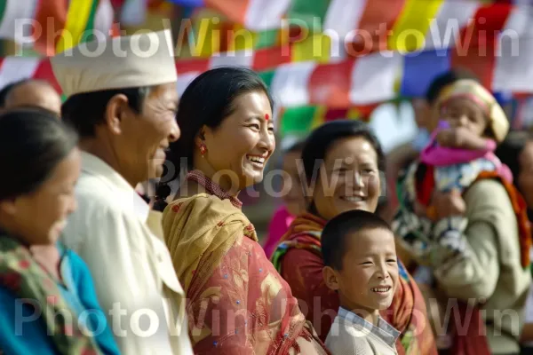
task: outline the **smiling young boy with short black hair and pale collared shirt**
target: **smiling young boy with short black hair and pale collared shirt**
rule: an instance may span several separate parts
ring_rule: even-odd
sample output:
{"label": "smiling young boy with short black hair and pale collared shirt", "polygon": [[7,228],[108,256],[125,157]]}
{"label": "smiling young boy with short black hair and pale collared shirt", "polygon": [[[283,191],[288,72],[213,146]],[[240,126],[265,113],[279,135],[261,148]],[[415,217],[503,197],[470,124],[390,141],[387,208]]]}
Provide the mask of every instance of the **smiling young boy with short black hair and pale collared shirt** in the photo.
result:
{"label": "smiling young boy with short black hair and pale collared shirt", "polygon": [[397,354],[400,332],[379,317],[398,284],[394,234],[377,215],[352,210],[322,232],[323,277],[338,292],[340,308],[326,346],[333,355]]}

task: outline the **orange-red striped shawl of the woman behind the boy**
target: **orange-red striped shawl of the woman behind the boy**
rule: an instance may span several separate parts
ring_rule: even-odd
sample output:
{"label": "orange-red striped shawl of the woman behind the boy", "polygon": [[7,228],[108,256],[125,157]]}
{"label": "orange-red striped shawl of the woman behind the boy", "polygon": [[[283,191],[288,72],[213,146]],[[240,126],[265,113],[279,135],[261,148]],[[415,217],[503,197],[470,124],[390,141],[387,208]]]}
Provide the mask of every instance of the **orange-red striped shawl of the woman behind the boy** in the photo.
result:
{"label": "orange-red striped shawl of the woman behind the boy", "polygon": [[[293,221],[289,231],[282,237],[282,242],[272,257],[278,272],[282,272],[282,257],[286,255],[290,248],[309,250],[314,256],[319,257],[322,262],[321,234],[325,223],[326,221],[322,218],[315,217],[309,213],[297,217]],[[396,350],[400,355],[436,355],[434,335],[427,323],[424,297],[403,264],[399,262],[398,266],[401,276],[400,286],[396,290],[393,303],[388,310],[382,312],[381,316],[394,328],[402,332],[396,342]],[[322,273],[317,273],[315,277],[322,278]],[[302,281],[307,284],[320,284],[317,280]],[[320,288],[325,288],[325,285],[321,285]],[[334,300],[322,301],[322,306],[325,305],[328,308],[330,304],[334,303],[337,306],[336,309],[338,309],[338,295],[336,293],[327,292],[327,290],[322,290],[322,292],[317,290],[317,292],[325,297],[335,297]],[[322,314],[324,311],[322,309]],[[420,315],[424,317],[420,317]]]}

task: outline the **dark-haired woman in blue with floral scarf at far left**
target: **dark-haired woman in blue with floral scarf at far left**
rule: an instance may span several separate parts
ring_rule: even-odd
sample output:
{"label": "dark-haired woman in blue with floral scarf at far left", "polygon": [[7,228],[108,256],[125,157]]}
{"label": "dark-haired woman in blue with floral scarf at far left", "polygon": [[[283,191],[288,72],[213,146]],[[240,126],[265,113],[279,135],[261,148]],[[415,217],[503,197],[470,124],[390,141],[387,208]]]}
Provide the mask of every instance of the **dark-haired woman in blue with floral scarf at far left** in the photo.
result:
{"label": "dark-haired woman in blue with floral scarf at far left", "polygon": [[119,353],[91,273],[58,242],[76,209],[76,144],[47,111],[0,115],[0,352]]}

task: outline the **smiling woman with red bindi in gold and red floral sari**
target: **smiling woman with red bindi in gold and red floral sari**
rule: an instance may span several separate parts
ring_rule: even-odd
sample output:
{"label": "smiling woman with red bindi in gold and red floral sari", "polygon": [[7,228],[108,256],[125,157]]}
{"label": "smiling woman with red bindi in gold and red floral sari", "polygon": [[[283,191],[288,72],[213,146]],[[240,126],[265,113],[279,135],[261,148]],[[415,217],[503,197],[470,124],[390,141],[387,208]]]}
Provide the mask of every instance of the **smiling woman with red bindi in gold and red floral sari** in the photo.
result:
{"label": "smiling woman with red bindi in gold and red floral sari", "polygon": [[163,213],[195,354],[326,354],[289,285],[258,243],[237,194],[259,183],[274,152],[272,99],[248,69],[198,76],[178,110],[171,149],[186,181]]}

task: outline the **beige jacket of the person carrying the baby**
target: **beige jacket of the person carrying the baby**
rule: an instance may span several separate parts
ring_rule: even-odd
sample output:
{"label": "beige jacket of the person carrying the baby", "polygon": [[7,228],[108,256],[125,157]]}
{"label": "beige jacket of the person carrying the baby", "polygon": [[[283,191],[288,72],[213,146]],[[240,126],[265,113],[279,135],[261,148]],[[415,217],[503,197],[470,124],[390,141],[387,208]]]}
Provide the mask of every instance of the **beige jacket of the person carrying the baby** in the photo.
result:
{"label": "beige jacket of the person carrying the baby", "polygon": [[521,267],[513,206],[496,180],[474,183],[464,198],[468,226],[463,237],[470,256],[432,265],[434,276],[449,299],[481,301],[494,354],[518,353],[531,280],[529,269]]}

